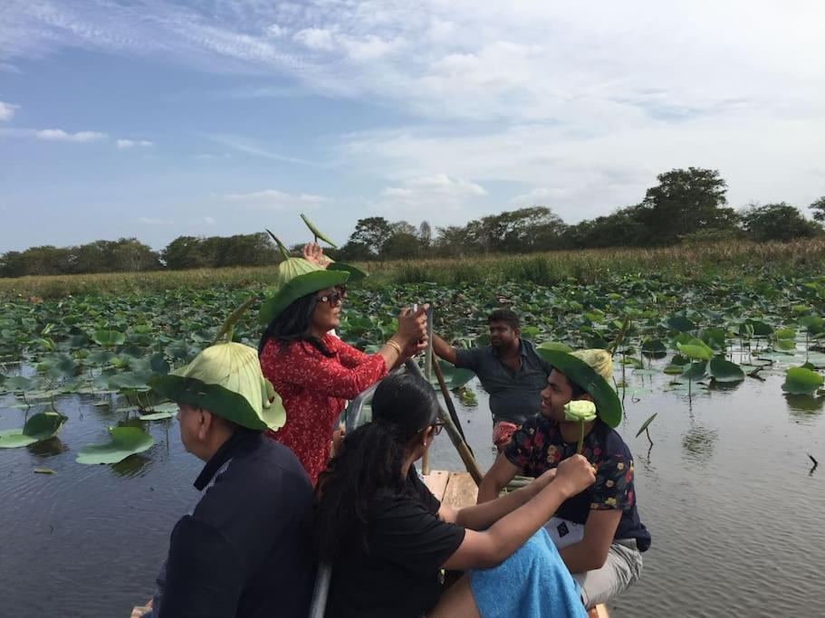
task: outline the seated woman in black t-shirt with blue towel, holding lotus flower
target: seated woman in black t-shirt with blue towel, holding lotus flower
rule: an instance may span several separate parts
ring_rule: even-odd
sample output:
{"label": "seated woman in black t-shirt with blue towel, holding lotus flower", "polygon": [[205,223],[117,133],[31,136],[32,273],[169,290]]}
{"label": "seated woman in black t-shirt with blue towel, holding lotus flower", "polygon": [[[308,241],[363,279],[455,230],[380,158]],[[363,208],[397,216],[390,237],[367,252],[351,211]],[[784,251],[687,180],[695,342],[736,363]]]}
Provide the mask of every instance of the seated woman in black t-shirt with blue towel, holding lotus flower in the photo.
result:
{"label": "seated woman in black t-shirt with blue towel, holding lotus flower", "polygon": [[[594,480],[574,455],[503,498],[455,510],[413,465],[440,431],[433,389],[384,379],[372,423],[349,433],[315,488],[315,533],[332,565],[327,616],[584,616],[575,584],[542,528]],[[469,571],[443,590],[442,568]]]}

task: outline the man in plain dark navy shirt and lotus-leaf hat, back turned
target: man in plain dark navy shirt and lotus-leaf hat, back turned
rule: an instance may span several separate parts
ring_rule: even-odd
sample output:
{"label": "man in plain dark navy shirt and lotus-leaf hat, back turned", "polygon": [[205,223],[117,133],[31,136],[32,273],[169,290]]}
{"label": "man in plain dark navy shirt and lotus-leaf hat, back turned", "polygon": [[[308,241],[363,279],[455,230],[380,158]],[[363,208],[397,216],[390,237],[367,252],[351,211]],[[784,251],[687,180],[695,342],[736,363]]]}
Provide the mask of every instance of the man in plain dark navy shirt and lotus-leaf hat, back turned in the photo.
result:
{"label": "man in plain dark navy shirt and lotus-leaf hat, back turned", "polygon": [[181,442],[206,461],[195,481],[200,499],[172,530],[151,615],[306,618],[312,486],[293,452],[264,436],[284,412],[257,352],[207,347],[150,384],[178,404]]}

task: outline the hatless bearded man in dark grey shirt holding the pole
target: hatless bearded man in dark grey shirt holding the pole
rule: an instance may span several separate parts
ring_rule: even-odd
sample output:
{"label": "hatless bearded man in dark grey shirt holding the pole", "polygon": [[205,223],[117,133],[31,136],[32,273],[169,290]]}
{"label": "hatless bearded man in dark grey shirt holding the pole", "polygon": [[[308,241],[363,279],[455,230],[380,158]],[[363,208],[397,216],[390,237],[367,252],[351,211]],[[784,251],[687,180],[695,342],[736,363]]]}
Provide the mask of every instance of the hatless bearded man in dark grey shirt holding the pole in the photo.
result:
{"label": "hatless bearded man in dark grey shirt holding the pole", "polygon": [[518,316],[510,309],[495,309],[487,318],[490,345],[452,347],[433,336],[433,350],[456,367],[472,369],[490,395],[493,442],[499,452],[525,420],[540,412],[541,392],[552,367],[521,338]]}

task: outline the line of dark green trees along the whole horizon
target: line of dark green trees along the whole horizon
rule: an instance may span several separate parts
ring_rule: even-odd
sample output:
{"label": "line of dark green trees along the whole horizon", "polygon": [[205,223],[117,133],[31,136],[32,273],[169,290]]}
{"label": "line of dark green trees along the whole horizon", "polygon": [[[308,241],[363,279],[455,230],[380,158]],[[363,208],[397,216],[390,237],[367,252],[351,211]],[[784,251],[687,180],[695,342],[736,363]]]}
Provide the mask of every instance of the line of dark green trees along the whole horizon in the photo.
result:
{"label": "line of dark green trees along the whole horizon", "polygon": [[[526,253],[602,247],[660,247],[678,242],[735,239],[790,241],[825,233],[825,196],[810,204],[813,220],[784,202],[727,204],[727,184],[717,170],[688,167],[657,176],[644,199],[612,214],[567,224],[545,205],[491,214],[465,225],[436,227],[367,217],[340,249],[343,261]],[[300,247],[293,247],[297,250]],[[268,234],[180,236],[156,252],[136,238],[73,247],[31,247],[0,255],[0,277],[259,266],[281,259]]]}

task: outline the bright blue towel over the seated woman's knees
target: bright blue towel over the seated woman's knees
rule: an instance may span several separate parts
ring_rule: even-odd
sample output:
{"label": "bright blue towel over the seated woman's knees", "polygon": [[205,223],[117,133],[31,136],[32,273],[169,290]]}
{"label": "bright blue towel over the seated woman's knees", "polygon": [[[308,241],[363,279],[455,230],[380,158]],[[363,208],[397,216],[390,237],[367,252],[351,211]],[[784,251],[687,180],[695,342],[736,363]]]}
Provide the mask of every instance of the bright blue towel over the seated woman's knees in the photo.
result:
{"label": "bright blue towel over the seated woman's knees", "polygon": [[499,566],[470,572],[482,618],[586,618],[579,585],[542,528]]}

